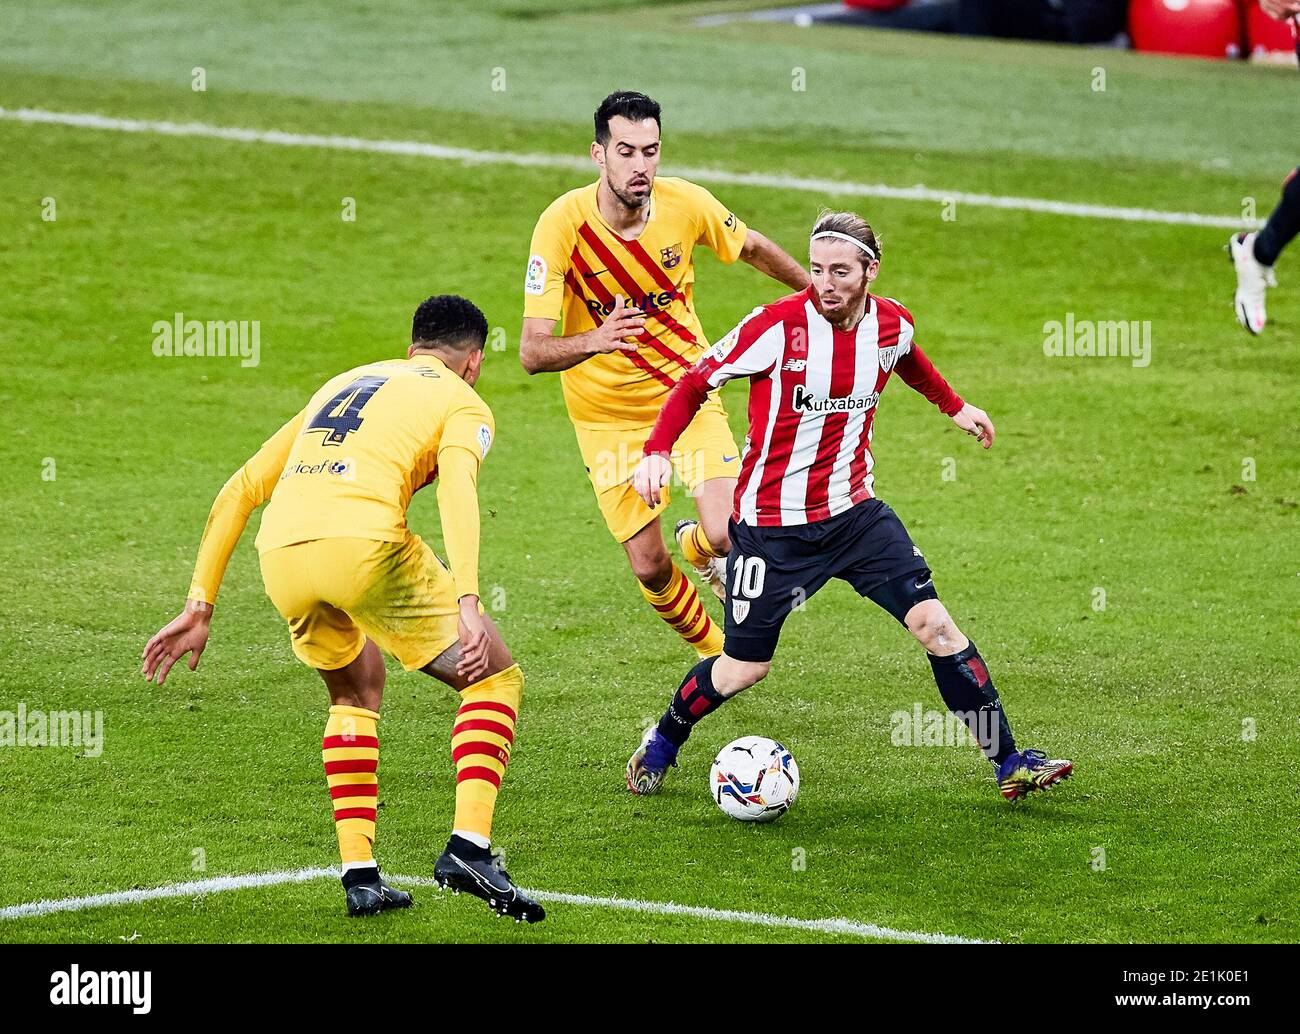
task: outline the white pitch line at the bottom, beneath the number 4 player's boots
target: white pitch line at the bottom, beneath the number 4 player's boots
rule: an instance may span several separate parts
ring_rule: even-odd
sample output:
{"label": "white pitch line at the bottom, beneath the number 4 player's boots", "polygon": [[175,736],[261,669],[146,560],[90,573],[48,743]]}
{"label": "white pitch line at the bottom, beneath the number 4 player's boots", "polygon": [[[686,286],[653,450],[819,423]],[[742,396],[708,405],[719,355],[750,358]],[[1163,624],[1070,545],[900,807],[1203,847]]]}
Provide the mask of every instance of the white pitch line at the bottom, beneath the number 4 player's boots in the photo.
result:
{"label": "white pitch line at the bottom, beneath the number 4 player's boots", "polygon": [[[60,897],[56,900],[30,901],[22,905],[0,908],[0,920],[21,920],[32,916],[49,916],[56,912],[81,912],[87,908],[114,905],[134,905],[140,901],[157,901],[165,897],[196,897],[203,894],[222,894],[257,887],[273,887],[281,883],[307,883],[326,877],[338,878],[337,869],[291,869],[278,873],[250,873],[242,877],[216,877],[214,879],[195,879],[188,883],[168,883],[161,887],[148,887],[112,894],[91,894],[84,897]],[[396,884],[437,886],[429,877],[399,877],[390,879]],[[749,926],[766,926],[784,930],[812,930],[822,934],[842,934],[846,936],[874,938],[879,940],[910,940],[926,944],[984,944],[994,942],[971,940],[948,934],[926,934],[909,930],[893,930],[870,922],[853,920],[797,920],[790,916],[771,916],[766,912],[733,912],[731,909],[699,908],[679,905],[672,901],[638,901],[630,897],[592,897],[585,894],[558,894],[552,891],[528,891],[541,901],[577,905],[581,908],[610,908],[624,912],[641,912],[650,916],[685,916],[694,920],[714,920],[718,922],[740,922]]]}

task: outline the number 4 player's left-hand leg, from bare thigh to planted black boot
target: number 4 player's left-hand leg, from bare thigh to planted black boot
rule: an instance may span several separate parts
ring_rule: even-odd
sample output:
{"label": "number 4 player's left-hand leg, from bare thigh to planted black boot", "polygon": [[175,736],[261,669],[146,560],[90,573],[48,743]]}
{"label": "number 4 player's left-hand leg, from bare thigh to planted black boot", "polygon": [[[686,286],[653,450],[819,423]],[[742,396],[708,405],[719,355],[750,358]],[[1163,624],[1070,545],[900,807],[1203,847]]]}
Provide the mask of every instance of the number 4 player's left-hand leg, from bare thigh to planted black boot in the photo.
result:
{"label": "number 4 player's left-hand leg, from bare thigh to planted black boot", "polygon": [[390,908],[407,908],[411,895],[382,881],[373,853],[380,792],[378,721],[384,700],[384,657],[374,641],[367,639],[350,663],[317,671],[330,698],[321,757],[343,858],[347,914],[376,916]]}

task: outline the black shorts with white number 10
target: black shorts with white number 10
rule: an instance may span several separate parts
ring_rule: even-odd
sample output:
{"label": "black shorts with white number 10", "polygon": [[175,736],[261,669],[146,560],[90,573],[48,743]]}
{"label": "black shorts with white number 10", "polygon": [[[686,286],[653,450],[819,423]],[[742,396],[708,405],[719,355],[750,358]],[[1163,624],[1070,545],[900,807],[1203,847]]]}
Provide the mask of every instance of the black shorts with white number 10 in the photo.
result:
{"label": "black shorts with white number 10", "polygon": [[[898,515],[880,499],[789,528],[731,523],[727,557],[727,656],[771,661],[785,618],[832,577],[842,579],[900,622],[906,613],[888,583],[905,575],[907,598],[937,598],[926,558]],[[926,584],[928,583],[928,584]],[[901,613],[900,613],[901,611]]]}

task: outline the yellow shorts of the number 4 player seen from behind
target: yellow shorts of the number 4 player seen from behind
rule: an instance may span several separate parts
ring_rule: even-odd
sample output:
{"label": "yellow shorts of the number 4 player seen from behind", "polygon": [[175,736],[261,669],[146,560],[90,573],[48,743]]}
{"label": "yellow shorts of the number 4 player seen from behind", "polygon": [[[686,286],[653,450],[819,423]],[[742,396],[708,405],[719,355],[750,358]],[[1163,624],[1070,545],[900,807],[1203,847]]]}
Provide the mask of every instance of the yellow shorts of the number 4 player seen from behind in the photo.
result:
{"label": "yellow shorts of the number 4 player seen from behind", "polygon": [[313,538],[269,549],[261,580],[289,622],[294,653],[311,667],[352,663],[369,636],[413,671],[459,639],[455,581],[413,533],[403,542]]}

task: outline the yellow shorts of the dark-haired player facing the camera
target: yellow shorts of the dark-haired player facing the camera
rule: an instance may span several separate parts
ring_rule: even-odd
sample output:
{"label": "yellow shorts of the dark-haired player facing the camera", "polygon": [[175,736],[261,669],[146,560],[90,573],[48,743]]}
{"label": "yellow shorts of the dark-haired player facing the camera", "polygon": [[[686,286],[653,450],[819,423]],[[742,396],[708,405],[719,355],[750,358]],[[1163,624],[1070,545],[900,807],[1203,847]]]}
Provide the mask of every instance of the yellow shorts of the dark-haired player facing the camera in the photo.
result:
{"label": "yellow shorts of the dark-haired player facing the camera", "polygon": [[[663,512],[663,506],[651,510],[632,489],[632,473],[641,460],[641,446],[650,437],[650,428],[589,428],[575,424],[573,431],[577,433],[577,446],[582,451],[582,463],[592,479],[604,524],[618,541],[627,542]],[[705,481],[738,476],[740,450],[727,425],[727,410],[716,395],[699,407],[696,419],[677,440],[672,464],[692,496]]]}

